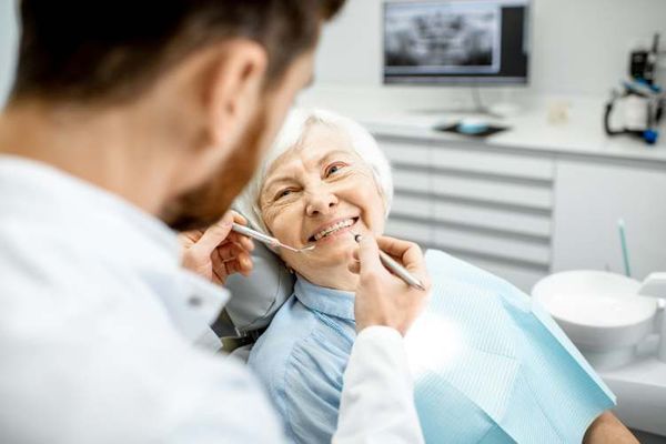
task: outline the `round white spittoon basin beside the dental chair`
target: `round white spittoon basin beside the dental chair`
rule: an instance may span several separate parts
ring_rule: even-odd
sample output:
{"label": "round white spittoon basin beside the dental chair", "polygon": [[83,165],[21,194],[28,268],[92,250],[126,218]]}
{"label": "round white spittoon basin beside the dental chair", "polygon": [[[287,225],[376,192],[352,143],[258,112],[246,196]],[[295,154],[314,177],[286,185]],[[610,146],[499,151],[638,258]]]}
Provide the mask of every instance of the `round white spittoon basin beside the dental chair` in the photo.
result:
{"label": "round white spittoon basin beside the dental chair", "polygon": [[640,283],[602,271],[549,275],[532,289],[555,321],[597,367],[630,362],[634,346],[654,330],[657,300],[637,294]]}

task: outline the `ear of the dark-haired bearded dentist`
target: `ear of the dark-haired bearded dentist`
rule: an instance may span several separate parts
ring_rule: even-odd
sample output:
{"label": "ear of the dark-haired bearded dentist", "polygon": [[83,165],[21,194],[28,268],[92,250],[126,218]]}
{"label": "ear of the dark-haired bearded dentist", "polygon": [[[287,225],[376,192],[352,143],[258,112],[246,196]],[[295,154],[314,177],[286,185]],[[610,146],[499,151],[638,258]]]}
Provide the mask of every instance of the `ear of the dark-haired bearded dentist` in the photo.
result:
{"label": "ear of the dark-haired bearded dentist", "polygon": [[[219,47],[203,79],[208,147],[235,144],[261,105],[268,63],[265,49],[252,40],[235,39]],[[226,154],[228,150],[216,151]]]}

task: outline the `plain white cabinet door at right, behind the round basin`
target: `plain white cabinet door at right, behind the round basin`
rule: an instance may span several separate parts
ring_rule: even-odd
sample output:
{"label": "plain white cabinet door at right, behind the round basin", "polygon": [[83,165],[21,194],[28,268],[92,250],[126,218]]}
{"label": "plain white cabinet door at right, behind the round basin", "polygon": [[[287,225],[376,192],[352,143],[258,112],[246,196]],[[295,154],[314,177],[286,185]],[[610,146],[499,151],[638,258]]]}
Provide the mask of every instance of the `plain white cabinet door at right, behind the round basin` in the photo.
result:
{"label": "plain white cabinet door at right, behind the round basin", "polygon": [[625,221],[634,278],[666,271],[666,165],[557,162],[552,270],[623,273]]}

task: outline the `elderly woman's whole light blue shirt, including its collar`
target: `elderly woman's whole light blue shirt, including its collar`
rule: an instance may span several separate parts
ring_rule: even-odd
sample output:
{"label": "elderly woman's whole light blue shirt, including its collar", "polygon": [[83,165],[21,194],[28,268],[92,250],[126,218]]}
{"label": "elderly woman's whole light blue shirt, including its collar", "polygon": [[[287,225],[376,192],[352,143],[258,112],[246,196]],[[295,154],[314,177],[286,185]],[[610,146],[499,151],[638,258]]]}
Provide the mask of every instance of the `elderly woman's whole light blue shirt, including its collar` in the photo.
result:
{"label": "elderly woman's whole light blue shirt, including its collar", "polygon": [[249,360],[293,442],[331,442],[355,337],[354,294],[299,276]]}

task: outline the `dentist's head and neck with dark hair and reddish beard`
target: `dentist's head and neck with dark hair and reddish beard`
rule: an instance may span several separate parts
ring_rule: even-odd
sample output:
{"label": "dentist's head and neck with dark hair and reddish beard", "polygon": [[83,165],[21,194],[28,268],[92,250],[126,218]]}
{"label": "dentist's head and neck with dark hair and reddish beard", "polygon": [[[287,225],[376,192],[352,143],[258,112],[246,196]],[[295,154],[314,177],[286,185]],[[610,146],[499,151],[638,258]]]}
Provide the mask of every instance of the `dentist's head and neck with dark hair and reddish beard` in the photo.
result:
{"label": "dentist's head and neck with dark hair and reddish beard", "polygon": [[342,3],[22,0],[0,151],[54,164],[175,228],[209,224],[311,81],[321,24]]}

